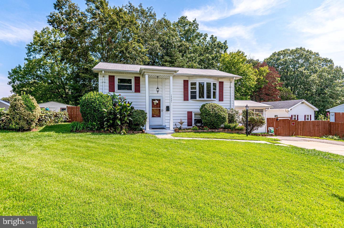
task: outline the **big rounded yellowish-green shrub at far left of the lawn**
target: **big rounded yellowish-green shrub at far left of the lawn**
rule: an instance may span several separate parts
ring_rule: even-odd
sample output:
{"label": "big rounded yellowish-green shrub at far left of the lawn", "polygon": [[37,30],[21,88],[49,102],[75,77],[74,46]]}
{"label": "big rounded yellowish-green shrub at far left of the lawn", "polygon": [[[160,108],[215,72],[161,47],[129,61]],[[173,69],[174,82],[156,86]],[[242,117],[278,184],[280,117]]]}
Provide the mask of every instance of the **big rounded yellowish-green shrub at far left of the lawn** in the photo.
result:
{"label": "big rounded yellowish-green shrub at far left of the lawn", "polygon": [[35,98],[23,94],[15,96],[8,109],[8,114],[18,130],[32,130],[40,116],[41,108],[37,105]]}

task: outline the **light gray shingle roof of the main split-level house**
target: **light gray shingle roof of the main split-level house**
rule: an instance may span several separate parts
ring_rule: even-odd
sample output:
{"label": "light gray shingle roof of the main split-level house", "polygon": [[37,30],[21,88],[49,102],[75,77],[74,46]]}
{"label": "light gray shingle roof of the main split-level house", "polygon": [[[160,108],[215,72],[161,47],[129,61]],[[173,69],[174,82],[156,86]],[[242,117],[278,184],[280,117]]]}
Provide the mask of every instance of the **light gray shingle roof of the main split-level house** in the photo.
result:
{"label": "light gray shingle roof of the main split-level house", "polygon": [[174,71],[178,71],[176,75],[190,74],[190,75],[241,77],[235,74],[230,74],[230,73],[213,70],[213,69],[161,67],[161,66],[147,66],[147,65],[134,65],[134,64],[108,63],[108,62],[100,62],[92,70],[109,70],[109,71],[119,70],[119,71],[129,71],[129,72],[139,73],[141,68],[155,69],[155,70],[174,70]]}

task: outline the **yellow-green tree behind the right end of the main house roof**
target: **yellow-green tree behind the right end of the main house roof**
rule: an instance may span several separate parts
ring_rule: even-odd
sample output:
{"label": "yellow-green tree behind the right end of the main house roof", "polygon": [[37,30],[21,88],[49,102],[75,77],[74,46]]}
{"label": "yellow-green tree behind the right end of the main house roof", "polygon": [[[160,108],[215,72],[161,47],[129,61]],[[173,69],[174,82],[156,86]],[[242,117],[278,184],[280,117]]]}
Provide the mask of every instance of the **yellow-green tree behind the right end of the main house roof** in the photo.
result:
{"label": "yellow-green tree behind the right end of the main house roof", "polygon": [[242,77],[235,80],[235,99],[250,98],[257,84],[257,70],[247,63],[247,56],[243,51],[224,53],[220,59],[219,70]]}

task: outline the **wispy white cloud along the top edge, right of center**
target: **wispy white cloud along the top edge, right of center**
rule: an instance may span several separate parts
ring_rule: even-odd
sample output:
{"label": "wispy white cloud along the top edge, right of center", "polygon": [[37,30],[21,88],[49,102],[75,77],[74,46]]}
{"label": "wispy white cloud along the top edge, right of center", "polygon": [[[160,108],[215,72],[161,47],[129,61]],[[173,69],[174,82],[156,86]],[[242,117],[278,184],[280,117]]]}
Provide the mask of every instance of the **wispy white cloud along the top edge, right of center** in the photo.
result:
{"label": "wispy white cloud along the top edge, right of center", "polygon": [[280,7],[287,0],[233,0],[233,6],[228,7],[227,2],[218,1],[214,5],[205,5],[198,9],[185,9],[183,15],[190,20],[214,21],[224,19],[235,14],[266,15],[272,8]]}

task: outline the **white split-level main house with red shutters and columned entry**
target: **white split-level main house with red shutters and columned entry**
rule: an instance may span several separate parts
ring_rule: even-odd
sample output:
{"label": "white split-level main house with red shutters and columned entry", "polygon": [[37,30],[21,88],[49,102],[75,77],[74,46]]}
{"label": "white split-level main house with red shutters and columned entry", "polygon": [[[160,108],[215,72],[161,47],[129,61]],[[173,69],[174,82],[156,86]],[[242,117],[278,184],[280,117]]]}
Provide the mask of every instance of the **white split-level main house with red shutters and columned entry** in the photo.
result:
{"label": "white split-level main house with red shutters and columned entry", "polygon": [[125,96],[136,109],[147,112],[146,130],[172,130],[180,126],[180,119],[183,127],[192,126],[204,103],[234,108],[234,81],[241,78],[211,69],[106,62],[93,71],[99,74],[99,92]]}

